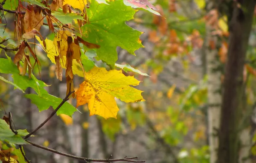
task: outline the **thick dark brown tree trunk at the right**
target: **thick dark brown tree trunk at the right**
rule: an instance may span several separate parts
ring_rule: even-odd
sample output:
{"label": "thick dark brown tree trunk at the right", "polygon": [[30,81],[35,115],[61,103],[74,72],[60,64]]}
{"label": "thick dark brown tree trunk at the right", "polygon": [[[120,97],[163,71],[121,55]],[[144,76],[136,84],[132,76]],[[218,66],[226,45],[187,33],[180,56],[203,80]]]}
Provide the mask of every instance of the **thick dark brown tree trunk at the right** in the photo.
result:
{"label": "thick dark brown tree trunk at the right", "polygon": [[244,109],[243,68],[256,0],[239,2],[239,5],[235,4],[233,7],[229,23],[230,38],[222,92],[218,163],[238,163],[239,158],[239,124]]}

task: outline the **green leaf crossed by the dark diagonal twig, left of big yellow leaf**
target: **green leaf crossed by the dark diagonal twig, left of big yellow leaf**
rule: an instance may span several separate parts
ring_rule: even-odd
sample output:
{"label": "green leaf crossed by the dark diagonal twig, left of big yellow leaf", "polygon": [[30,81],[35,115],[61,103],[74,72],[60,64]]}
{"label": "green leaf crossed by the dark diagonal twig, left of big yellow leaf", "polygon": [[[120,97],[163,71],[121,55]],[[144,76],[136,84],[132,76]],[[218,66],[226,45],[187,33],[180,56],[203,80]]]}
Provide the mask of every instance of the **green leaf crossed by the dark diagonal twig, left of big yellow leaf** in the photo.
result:
{"label": "green leaf crossed by the dark diagonal twig, left of big yellow leaf", "polygon": [[[29,98],[32,103],[37,105],[40,112],[48,109],[50,106],[52,106],[53,109],[56,109],[62,102],[61,98],[52,96],[50,94],[42,94],[41,97],[36,94],[26,94],[25,97]],[[76,111],[77,110],[74,106],[65,102],[63,106],[61,106],[61,108],[58,110],[57,115],[65,114],[71,117]]]}

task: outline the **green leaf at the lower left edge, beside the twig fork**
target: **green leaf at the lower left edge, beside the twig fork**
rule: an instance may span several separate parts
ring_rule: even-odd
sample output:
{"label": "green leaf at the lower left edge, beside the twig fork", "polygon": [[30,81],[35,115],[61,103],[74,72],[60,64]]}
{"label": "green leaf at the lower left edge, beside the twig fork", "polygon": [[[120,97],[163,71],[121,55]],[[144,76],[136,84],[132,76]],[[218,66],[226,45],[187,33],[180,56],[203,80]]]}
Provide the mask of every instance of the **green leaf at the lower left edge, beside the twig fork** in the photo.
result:
{"label": "green leaf at the lower left edge, beside the twig fork", "polygon": [[[9,125],[6,123],[6,121],[0,119],[0,140],[1,141],[7,141],[7,142],[18,144],[18,145],[29,144],[21,137],[28,134],[27,130],[18,130],[17,132],[18,134],[15,135],[15,133],[13,133],[12,130],[9,128]],[[21,132],[21,135],[19,134],[19,132]]]}

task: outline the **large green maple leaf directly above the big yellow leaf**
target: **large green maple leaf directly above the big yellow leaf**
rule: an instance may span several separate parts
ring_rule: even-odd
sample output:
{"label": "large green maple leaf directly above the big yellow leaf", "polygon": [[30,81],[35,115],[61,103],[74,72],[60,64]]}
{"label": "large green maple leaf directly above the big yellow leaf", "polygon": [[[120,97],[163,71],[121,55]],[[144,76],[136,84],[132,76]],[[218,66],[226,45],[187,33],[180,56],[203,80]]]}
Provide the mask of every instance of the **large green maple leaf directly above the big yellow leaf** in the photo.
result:
{"label": "large green maple leaf directly above the big yellow leaf", "polygon": [[82,26],[82,33],[85,41],[101,45],[96,50],[98,60],[104,60],[114,67],[117,46],[133,55],[135,50],[143,47],[139,38],[142,32],[125,23],[134,18],[135,12],[122,0],[110,2],[109,5],[91,0],[91,6],[87,9],[88,23]]}

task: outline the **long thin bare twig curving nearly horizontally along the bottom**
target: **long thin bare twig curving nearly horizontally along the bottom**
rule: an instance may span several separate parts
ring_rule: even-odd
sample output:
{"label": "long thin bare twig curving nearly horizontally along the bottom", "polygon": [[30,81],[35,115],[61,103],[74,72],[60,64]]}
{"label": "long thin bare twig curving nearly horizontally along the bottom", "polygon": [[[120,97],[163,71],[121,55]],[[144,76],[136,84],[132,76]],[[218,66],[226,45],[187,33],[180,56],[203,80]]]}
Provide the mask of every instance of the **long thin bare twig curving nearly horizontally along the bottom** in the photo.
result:
{"label": "long thin bare twig curving nearly horizontally along the bottom", "polygon": [[88,162],[116,162],[116,161],[127,161],[127,162],[132,162],[132,163],[145,163],[145,161],[140,161],[140,160],[133,160],[133,159],[137,159],[137,157],[130,157],[130,158],[120,158],[120,159],[91,159],[91,158],[86,158],[86,157],[78,157],[78,156],[74,156],[72,154],[66,154],[66,153],[63,153],[63,152],[60,152],[60,151],[57,151],[57,150],[54,150],[54,149],[51,149],[51,148],[47,148],[47,147],[44,147],[42,145],[38,145],[34,142],[30,142],[28,140],[25,140],[26,142],[30,143],[31,145],[37,147],[37,148],[41,148],[41,149],[44,149],[46,151],[50,151],[52,153],[55,153],[55,154],[60,154],[62,156],[66,156],[66,157],[70,157],[70,158],[74,158],[74,159],[77,159],[77,160],[84,160],[84,161],[88,161]]}

